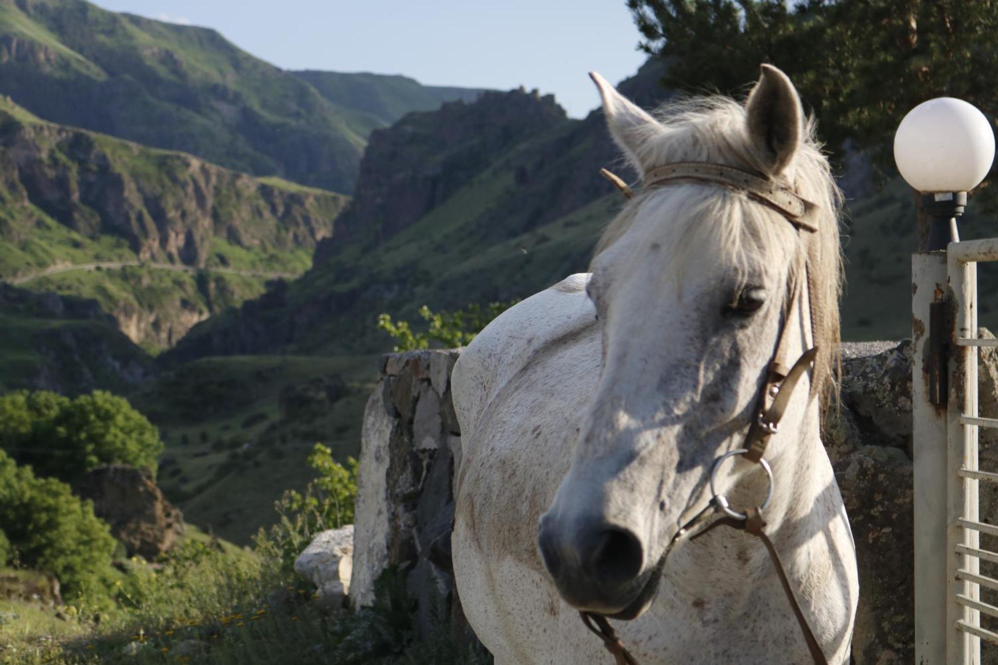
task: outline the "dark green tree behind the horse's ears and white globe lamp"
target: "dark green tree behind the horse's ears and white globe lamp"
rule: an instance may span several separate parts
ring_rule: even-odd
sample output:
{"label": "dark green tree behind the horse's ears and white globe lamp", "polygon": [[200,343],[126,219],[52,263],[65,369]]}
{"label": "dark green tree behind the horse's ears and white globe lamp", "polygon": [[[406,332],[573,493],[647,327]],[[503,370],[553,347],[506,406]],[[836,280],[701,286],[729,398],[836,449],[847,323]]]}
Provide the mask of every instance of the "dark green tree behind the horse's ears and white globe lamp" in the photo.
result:
{"label": "dark green tree behind the horse's ears and white globe lamp", "polygon": [[939,96],[998,112],[998,3],[963,0],[627,0],[668,87],[745,90],[758,65],[793,80],[834,150],[893,164],[901,118]]}

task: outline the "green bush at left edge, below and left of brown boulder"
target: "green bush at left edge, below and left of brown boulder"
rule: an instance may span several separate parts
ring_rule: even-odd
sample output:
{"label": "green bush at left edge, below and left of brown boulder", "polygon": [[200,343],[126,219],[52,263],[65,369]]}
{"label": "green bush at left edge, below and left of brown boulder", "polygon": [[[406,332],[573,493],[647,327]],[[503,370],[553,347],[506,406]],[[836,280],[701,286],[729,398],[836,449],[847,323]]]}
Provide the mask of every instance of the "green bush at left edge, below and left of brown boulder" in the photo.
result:
{"label": "green bush at left edge, below and left of brown boulder", "polygon": [[109,569],[115,541],[94,506],[55,478],[36,478],[0,450],[0,524],[21,565],[54,574],[64,594]]}

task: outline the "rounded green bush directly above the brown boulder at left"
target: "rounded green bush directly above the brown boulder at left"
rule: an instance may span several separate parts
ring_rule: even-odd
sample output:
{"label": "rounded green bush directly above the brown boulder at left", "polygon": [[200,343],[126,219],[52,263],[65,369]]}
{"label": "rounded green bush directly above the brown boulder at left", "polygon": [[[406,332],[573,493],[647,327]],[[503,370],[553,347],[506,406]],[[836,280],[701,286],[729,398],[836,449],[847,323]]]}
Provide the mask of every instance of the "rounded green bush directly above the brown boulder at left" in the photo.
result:
{"label": "rounded green bush directly above the brown boulder at left", "polygon": [[0,448],[38,475],[73,483],[101,464],[156,470],[156,427],[124,397],[95,390],[69,399],[48,390],[0,397]]}

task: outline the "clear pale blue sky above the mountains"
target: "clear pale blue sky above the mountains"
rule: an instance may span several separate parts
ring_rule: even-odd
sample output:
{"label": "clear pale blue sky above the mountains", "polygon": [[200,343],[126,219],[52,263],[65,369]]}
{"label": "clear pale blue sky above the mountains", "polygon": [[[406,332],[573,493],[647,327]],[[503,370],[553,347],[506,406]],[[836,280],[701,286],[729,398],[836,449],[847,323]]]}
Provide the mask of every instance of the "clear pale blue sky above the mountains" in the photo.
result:
{"label": "clear pale blue sky above the mountains", "polygon": [[215,28],[284,69],[405,74],[421,83],[554,93],[582,117],[644,56],[624,0],[97,0]]}

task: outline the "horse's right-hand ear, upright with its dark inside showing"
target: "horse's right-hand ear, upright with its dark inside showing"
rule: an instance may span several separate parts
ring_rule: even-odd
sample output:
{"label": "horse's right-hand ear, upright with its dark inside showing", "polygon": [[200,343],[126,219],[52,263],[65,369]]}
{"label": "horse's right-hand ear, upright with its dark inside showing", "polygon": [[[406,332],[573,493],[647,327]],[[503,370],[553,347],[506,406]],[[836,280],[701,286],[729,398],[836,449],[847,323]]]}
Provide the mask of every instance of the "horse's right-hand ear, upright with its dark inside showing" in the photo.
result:
{"label": "horse's right-hand ear, upright with its dark inside showing", "polygon": [[800,146],[803,114],[793,84],[781,71],[762,65],[762,75],[746,102],[749,139],[763,170],[777,175]]}

